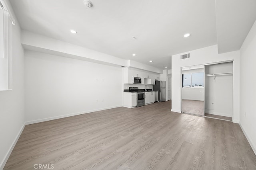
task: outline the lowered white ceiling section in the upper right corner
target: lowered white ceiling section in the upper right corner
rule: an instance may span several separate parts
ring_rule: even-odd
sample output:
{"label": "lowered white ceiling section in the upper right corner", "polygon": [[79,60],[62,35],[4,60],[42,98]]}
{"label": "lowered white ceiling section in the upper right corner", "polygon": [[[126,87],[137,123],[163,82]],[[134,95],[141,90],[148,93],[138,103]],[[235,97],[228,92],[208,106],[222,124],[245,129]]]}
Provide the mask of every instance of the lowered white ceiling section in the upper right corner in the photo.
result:
{"label": "lowered white ceiling section in the upper right corner", "polygon": [[218,53],[240,50],[256,20],[256,0],[216,0]]}

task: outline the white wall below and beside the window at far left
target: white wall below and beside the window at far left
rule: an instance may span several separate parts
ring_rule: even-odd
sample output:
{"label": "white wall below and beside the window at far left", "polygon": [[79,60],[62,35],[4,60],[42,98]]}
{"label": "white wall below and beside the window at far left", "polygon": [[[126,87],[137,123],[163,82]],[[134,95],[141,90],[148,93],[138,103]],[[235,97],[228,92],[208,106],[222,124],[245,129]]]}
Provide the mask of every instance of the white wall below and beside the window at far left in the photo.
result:
{"label": "white wall below and beside the window at far left", "polygon": [[0,169],[2,169],[24,128],[24,51],[20,26],[12,28],[12,90],[0,91]]}

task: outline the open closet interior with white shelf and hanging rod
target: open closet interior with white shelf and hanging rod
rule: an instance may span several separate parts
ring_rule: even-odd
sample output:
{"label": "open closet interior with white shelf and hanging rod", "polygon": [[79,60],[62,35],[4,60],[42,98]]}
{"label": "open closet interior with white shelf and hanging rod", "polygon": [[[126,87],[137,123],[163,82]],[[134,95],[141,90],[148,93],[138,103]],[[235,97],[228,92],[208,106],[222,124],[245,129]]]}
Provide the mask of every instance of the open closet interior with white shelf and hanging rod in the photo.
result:
{"label": "open closet interior with white shelf and hanging rod", "polygon": [[232,107],[233,62],[205,65],[205,116],[232,121]]}

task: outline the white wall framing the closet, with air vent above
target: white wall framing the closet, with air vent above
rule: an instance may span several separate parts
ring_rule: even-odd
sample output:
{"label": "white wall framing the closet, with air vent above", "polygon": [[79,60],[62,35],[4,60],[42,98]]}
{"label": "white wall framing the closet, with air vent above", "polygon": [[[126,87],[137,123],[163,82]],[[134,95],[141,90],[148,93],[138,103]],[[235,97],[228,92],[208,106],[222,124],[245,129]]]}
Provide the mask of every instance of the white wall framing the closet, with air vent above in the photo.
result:
{"label": "white wall framing the closet, with air vent above", "polygon": [[239,122],[239,51],[218,54],[217,45],[188,51],[189,59],[180,60],[180,55],[172,56],[172,111],[181,112],[181,67],[234,60],[233,66],[233,122]]}

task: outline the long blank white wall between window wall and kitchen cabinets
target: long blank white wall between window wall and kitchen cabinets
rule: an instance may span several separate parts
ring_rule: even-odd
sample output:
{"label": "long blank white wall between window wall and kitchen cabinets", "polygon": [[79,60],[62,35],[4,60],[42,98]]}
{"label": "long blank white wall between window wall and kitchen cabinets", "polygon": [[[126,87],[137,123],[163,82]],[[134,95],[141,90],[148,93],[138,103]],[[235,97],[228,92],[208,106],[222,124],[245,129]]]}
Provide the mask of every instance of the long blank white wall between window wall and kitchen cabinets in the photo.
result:
{"label": "long blank white wall between window wall and kitchen cabinets", "polygon": [[26,121],[122,106],[122,68],[25,51]]}

